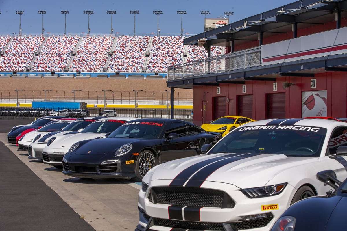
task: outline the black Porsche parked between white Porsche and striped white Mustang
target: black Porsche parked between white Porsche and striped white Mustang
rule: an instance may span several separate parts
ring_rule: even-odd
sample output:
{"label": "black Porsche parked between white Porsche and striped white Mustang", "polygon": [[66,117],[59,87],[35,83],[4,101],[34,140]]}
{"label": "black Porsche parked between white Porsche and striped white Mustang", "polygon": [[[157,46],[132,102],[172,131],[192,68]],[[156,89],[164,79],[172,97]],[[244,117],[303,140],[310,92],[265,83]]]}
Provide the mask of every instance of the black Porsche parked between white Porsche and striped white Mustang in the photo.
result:
{"label": "black Porsche parked between white Porsche and striped white Mustang", "polygon": [[63,173],[78,178],[133,178],[141,181],[159,163],[201,154],[217,133],[177,119],[136,119],[104,139],[74,143],[63,158]]}

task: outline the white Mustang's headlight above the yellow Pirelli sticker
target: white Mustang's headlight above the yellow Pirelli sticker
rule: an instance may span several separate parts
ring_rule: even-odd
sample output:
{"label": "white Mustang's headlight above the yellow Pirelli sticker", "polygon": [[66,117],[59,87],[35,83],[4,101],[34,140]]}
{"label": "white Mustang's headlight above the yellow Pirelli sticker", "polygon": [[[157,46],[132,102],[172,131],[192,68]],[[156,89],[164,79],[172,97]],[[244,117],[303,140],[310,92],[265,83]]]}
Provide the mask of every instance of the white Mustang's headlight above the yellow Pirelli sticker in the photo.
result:
{"label": "white Mustang's headlight above the yellow Pirelli sticker", "polygon": [[283,189],[286,187],[287,183],[278,184],[278,185],[268,185],[264,187],[256,188],[243,188],[241,192],[245,194],[248,198],[258,198],[264,196],[274,196],[280,194]]}

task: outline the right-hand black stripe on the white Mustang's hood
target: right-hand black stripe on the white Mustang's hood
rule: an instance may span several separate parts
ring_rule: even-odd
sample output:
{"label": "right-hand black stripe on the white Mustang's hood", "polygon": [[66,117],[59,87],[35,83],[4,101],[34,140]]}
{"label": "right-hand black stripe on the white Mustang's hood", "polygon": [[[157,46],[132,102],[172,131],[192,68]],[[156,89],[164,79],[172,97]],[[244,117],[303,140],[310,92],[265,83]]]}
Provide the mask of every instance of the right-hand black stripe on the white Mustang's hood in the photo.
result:
{"label": "right-hand black stripe on the white Mustang's hood", "polygon": [[202,183],[204,183],[204,180],[206,180],[214,171],[217,169],[228,165],[229,163],[242,160],[248,157],[254,157],[261,155],[263,153],[248,153],[244,155],[239,155],[236,157],[226,158],[224,160],[212,163],[211,165],[206,166],[205,168],[200,169],[198,172],[196,172],[192,178],[190,178],[185,185],[186,187],[200,187]]}

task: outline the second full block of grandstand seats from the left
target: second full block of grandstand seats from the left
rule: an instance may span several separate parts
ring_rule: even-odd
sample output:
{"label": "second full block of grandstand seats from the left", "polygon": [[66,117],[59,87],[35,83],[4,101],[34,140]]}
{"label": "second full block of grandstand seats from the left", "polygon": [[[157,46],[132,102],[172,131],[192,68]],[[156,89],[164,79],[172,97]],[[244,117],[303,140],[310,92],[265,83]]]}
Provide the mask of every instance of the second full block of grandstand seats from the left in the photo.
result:
{"label": "second full block of grandstand seats from the left", "polygon": [[75,49],[79,37],[48,37],[32,71],[62,71]]}

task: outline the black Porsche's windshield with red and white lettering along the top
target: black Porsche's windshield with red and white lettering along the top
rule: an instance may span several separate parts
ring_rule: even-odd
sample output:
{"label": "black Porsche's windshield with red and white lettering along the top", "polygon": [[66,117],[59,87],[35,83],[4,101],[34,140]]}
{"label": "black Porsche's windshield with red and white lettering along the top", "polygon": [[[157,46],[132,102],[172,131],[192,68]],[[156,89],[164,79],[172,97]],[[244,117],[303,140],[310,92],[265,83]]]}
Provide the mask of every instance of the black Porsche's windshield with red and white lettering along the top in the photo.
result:
{"label": "black Porsche's windshield with red and white lettering along the top", "polygon": [[163,127],[164,124],[162,123],[129,122],[119,127],[108,137],[158,139]]}

